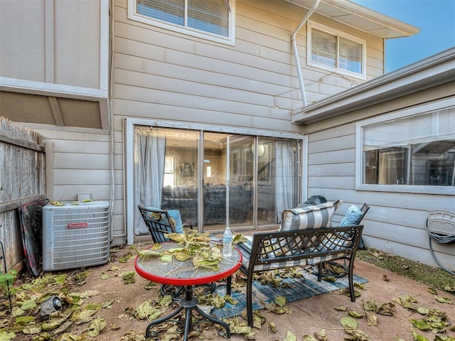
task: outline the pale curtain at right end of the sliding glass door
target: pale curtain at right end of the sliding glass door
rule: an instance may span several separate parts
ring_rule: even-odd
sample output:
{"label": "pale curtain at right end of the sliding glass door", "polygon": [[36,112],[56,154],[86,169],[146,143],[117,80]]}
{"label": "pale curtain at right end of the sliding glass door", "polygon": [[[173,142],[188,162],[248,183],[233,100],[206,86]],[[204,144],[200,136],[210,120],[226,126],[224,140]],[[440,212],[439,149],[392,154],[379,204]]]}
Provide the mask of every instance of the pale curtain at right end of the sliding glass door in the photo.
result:
{"label": "pale curtain at right end of the sliding glass door", "polygon": [[277,222],[281,222],[282,212],[296,205],[296,156],[295,142],[277,141],[275,144],[275,171],[277,190]]}

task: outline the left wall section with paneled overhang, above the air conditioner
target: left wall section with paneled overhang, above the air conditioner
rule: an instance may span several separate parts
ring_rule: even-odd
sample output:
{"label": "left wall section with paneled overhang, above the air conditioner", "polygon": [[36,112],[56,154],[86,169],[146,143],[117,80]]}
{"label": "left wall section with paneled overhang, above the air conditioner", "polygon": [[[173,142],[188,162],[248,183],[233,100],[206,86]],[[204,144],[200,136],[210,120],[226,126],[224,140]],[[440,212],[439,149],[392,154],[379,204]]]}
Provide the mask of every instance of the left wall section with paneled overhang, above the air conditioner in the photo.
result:
{"label": "left wall section with paneled overhang, above the air conditioner", "polygon": [[0,42],[0,116],[43,136],[46,196],[109,200],[109,0],[0,1]]}

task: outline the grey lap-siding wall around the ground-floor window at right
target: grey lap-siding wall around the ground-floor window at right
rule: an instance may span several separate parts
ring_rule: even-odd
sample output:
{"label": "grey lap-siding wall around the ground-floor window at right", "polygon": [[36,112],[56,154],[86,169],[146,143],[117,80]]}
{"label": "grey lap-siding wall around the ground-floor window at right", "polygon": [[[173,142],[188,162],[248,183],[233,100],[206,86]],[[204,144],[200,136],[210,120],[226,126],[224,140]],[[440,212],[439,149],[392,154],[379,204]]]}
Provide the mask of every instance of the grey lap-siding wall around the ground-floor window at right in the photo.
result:
{"label": "grey lap-siding wall around the ground-floor window at right", "polygon": [[[454,195],[355,190],[355,122],[439,99],[454,99],[454,87],[455,82],[449,82],[306,125],[309,138],[308,195],[343,200],[334,221],[342,219],[349,205],[368,202],[372,208],[363,220],[367,247],[437,266],[429,251],[425,222],[429,210],[454,211]],[[453,246],[432,245],[442,264],[455,263]]]}

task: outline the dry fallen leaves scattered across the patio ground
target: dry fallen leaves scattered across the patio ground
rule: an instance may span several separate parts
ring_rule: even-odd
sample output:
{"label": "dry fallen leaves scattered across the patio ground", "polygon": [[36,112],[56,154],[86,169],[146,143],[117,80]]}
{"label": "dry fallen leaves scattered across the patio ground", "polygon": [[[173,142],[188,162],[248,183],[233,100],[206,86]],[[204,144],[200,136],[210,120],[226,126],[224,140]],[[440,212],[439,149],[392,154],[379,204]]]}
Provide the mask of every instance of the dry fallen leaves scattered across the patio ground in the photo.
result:
{"label": "dry fallen leaves scattered across the patio ground", "polygon": [[[205,242],[204,238],[200,238],[200,241],[202,243]],[[191,250],[193,250],[194,252],[198,252],[200,250],[199,247],[197,246],[195,247],[194,243],[192,244],[185,240],[181,240],[180,242],[190,247]],[[153,251],[159,250],[159,246],[156,246],[156,249],[152,250]],[[181,252],[181,250],[178,249],[173,250],[174,254],[178,254],[179,252]],[[113,253],[115,253],[115,251],[113,251]],[[130,259],[132,258],[133,256],[129,252],[127,252],[125,257],[122,257],[124,261],[130,261]],[[119,263],[121,263],[122,261],[119,261]],[[112,266],[109,270],[107,270],[107,273],[109,271],[112,271],[114,273],[114,276],[119,276],[127,279],[131,279],[129,278],[129,276],[132,276],[134,278],[132,274],[123,272],[117,266]],[[273,272],[273,276],[266,274],[267,272],[268,273]],[[301,276],[301,271],[299,271],[299,269],[297,268],[286,269],[286,271],[267,272],[264,273],[266,275],[262,277],[262,281],[271,286],[282,285],[282,278],[287,278],[287,276],[299,275]],[[135,274],[135,271],[132,271],[132,273]],[[14,312],[16,313],[16,320],[14,320],[14,324],[13,325],[10,324],[7,329],[0,327],[0,340],[13,340],[16,333],[23,332],[24,334],[27,333],[27,335],[35,335],[36,340],[54,339],[57,340],[56,338],[59,337],[58,339],[59,341],[65,340],[77,341],[82,340],[82,336],[74,334],[72,332],[72,329],[74,328],[75,325],[81,324],[87,325],[87,327],[85,327],[85,332],[90,332],[91,337],[97,337],[97,335],[100,335],[100,333],[102,333],[102,330],[105,330],[105,328],[118,330],[119,328],[118,326],[116,325],[107,326],[105,321],[102,320],[100,316],[97,316],[97,311],[109,307],[109,305],[112,305],[114,301],[112,300],[106,301],[105,303],[102,303],[100,306],[93,303],[85,303],[87,299],[90,299],[91,297],[97,295],[96,291],[69,293],[68,288],[82,285],[83,283],[85,283],[85,278],[89,274],[90,271],[75,271],[73,274],[57,274],[51,276],[45,275],[41,278],[36,278],[33,281],[23,283],[23,286],[21,286],[19,290],[18,288],[16,288],[16,290],[14,291],[14,295],[16,298],[16,307],[14,307]],[[128,281],[125,281],[124,283],[128,283]],[[131,283],[134,282],[132,281]],[[242,274],[237,274],[237,276],[235,276],[235,281],[232,281],[232,291],[240,291],[244,286],[245,277]],[[156,284],[150,282],[149,284],[146,285],[146,287],[154,288],[156,287]],[[45,290],[43,290],[44,288]],[[356,285],[356,288],[364,290],[363,286]],[[454,286],[451,285],[450,283],[446,284],[444,290],[449,292],[453,291]],[[343,293],[343,291],[340,292]],[[435,300],[438,301],[439,303],[454,304],[453,300],[451,300],[450,298],[440,296],[436,288],[430,287],[429,292],[434,294]],[[55,316],[51,316],[45,322],[40,323],[38,313],[39,306],[45,300],[45,298],[55,293],[57,293],[58,296],[60,296],[60,298],[62,298],[62,300],[65,301],[66,310],[65,312],[59,312],[55,314]],[[360,292],[357,295],[360,296]],[[168,298],[166,299],[168,300]],[[230,296],[225,296],[224,298],[220,296],[220,299],[229,301]],[[127,315],[131,316],[132,318],[139,318],[139,316],[143,318],[143,316],[145,315],[146,318],[153,319],[154,316],[163,315],[166,312],[167,308],[169,307],[172,308],[172,306],[176,304],[173,303],[172,300],[168,302],[170,303],[160,304],[158,299],[155,301],[153,300],[146,301],[144,303],[137,305],[137,307],[134,308],[134,310],[125,309],[125,313],[127,313]],[[235,304],[235,302],[231,303]],[[412,296],[401,296],[400,298],[397,299],[397,301],[391,301],[387,303],[376,303],[374,301],[363,302],[363,310],[366,316],[365,319],[366,323],[368,323],[368,325],[370,326],[377,326],[378,323],[380,323],[380,318],[378,321],[378,317],[375,314],[393,316],[395,314],[395,303],[399,303],[407,310],[410,310],[410,312],[412,313],[419,313],[420,315],[422,315],[422,318],[410,319],[410,325],[414,326],[414,328],[417,328],[417,330],[420,330],[417,327],[420,326],[421,328],[424,328],[422,330],[432,330],[433,332],[438,332],[437,335],[434,335],[434,341],[455,341],[454,337],[444,335],[444,330],[450,328],[447,320],[447,314],[441,310],[419,307],[418,300],[416,300]],[[144,304],[143,307],[141,307],[142,304]],[[146,306],[150,307],[149,310],[145,308]],[[144,311],[141,311],[142,308],[144,308]],[[355,312],[355,310],[346,307],[337,307],[336,310],[341,310],[343,311],[343,313],[348,315],[345,316],[344,318],[355,317],[356,319],[359,319],[361,318],[360,315],[362,315],[361,313]],[[279,301],[274,302],[273,305],[269,306],[269,310],[267,311],[271,311],[273,313],[292,313],[290,308],[286,307],[285,301],[284,305],[282,305],[282,303],[279,303]],[[242,313],[242,315],[244,316],[244,318],[246,318],[245,312]],[[352,318],[352,320],[355,319]],[[262,325],[264,325],[264,323],[267,323],[267,328],[272,330],[273,326],[274,330],[277,330],[277,326],[272,322],[267,322],[264,315],[258,311],[255,311],[254,321],[255,328],[260,329]],[[248,327],[246,323],[240,322],[238,318],[226,319],[226,322],[229,323],[233,334],[244,335],[246,340],[255,339],[254,328],[252,329]],[[4,323],[2,323],[2,325],[4,325]],[[205,323],[205,328],[208,328],[208,325],[210,325],[210,323]],[[345,329],[346,333],[350,335],[349,337],[346,338],[346,340],[360,341],[369,340],[368,335],[366,335],[365,332],[360,330],[358,326],[355,328],[345,327],[343,328]],[[450,330],[454,330],[454,326],[451,326]],[[176,326],[171,323],[162,326],[160,332],[162,337],[161,340],[173,340],[173,338],[178,338],[180,336],[180,334],[176,330]],[[415,330],[412,333],[414,340],[417,341],[428,340],[426,337],[419,335],[418,332]],[[198,335],[199,334],[196,333],[192,336],[198,337]],[[285,340],[288,339],[294,340],[294,337],[295,335],[289,331],[287,334],[287,339]],[[304,335],[303,337],[308,337],[307,340],[312,340],[311,338],[309,338],[310,337],[309,335]],[[325,335],[316,335],[315,333],[315,337],[316,340],[327,340]],[[125,331],[124,336],[120,338],[120,341],[124,340],[143,341],[144,333],[134,332],[132,330]],[[400,337],[397,336],[397,340],[402,339],[400,339]]]}

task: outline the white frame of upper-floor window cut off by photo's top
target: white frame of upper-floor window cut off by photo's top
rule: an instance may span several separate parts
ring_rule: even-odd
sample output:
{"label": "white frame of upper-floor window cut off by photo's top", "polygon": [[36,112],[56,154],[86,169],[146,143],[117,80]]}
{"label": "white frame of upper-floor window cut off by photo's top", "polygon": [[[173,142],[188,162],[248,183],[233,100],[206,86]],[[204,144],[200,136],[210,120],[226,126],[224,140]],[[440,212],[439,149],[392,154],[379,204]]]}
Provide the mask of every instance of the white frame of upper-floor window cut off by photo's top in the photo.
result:
{"label": "white frame of upper-floor window cut off by photo's top", "polygon": [[219,36],[214,33],[200,31],[196,28],[183,27],[179,25],[174,25],[173,23],[167,23],[166,21],[161,21],[154,18],[149,18],[148,16],[142,16],[137,13],[137,0],[128,0],[128,18],[134,21],[139,21],[140,23],[146,23],[148,25],[153,25],[160,28],[165,28],[166,30],[183,33],[188,36],[193,36],[197,38],[202,38],[206,40],[212,40],[217,43],[223,43],[226,45],[235,45],[235,0],[229,1],[229,27],[228,32],[229,36]]}

